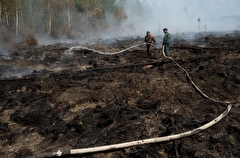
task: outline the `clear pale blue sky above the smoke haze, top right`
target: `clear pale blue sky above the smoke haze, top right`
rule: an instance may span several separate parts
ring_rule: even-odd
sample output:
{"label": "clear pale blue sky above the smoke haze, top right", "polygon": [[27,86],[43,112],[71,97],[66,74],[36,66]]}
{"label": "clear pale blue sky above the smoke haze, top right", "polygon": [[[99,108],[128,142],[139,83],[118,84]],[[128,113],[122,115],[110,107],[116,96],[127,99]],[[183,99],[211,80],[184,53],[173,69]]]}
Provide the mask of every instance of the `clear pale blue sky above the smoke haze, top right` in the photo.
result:
{"label": "clear pale blue sky above the smoke haze, top right", "polygon": [[189,15],[206,17],[240,15],[239,0],[140,0],[151,7],[164,5],[173,13],[183,12],[187,8]]}

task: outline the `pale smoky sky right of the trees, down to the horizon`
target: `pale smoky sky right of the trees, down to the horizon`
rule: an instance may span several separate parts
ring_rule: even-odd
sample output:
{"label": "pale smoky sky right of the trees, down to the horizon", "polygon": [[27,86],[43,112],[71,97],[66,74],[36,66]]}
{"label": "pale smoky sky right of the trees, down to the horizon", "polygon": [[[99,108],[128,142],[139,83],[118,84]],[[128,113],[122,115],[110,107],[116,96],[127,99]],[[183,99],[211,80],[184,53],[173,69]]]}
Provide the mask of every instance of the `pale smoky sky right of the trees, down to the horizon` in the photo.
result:
{"label": "pale smoky sky right of the trees, down to the horizon", "polygon": [[[128,18],[122,28],[128,34],[143,30],[160,34],[165,27],[174,33],[240,30],[240,0],[139,1],[124,1]],[[139,6],[140,10],[135,9]]]}

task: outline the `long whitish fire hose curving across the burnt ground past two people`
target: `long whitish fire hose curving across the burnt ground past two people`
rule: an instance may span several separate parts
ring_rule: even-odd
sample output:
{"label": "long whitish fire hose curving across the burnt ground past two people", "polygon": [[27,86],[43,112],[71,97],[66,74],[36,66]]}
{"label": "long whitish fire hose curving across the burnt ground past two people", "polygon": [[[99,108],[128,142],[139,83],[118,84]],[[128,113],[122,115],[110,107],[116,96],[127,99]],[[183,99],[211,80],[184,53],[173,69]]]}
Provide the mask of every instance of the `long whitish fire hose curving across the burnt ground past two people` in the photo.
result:
{"label": "long whitish fire hose curving across the burnt ground past two people", "polygon": [[[146,43],[143,43],[146,44]],[[127,49],[115,52],[115,53],[106,53],[107,55],[110,54],[118,54],[118,53],[122,53],[126,50],[129,50],[133,47],[137,47],[139,45],[142,44],[137,44],[134,45],[132,47],[129,47]],[[160,50],[160,48],[156,47],[155,45],[151,44],[153,47],[157,48]],[[74,47],[74,48],[81,48],[84,49],[84,47]],[[72,48],[73,49],[73,48]],[[70,51],[72,51],[72,49]],[[88,49],[90,50],[90,49]],[[99,51],[95,51],[94,52],[98,52]],[[64,156],[64,155],[75,155],[75,154],[89,154],[89,153],[96,153],[96,152],[102,152],[102,151],[108,151],[108,150],[116,150],[116,149],[122,149],[122,148],[127,148],[127,147],[132,147],[132,146],[138,146],[138,145],[143,145],[143,144],[150,144],[150,143],[159,143],[159,142],[166,142],[166,141],[172,141],[172,140],[176,140],[176,139],[180,139],[180,138],[184,138],[184,137],[189,137],[192,135],[195,135],[197,133],[200,133],[206,129],[208,129],[209,127],[215,125],[216,123],[218,123],[220,120],[222,120],[231,110],[232,108],[232,103],[228,102],[228,101],[219,101],[216,99],[213,99],[211,97],[208,97],[205,93],[203,93],[197,86],[196,84],[193,82],[193,80],[191,79],[189,73],[187,72],[187,70],[185,70],[182,66],[180,66],[177,62],[175,62],[171,57],[167,57],[165,55],[164,52],[164,46],[162,47],[162,52],[163,52],[163,56],[167,59],[170,59],[173,63],[175,63],[179,68],[181,68],[187,75],[188,79],[190,80],[191,84],[194,86],[194,88],[200,92],[205,98],[213,101],[213,102],[217,102],[217,103],[222,103],[227,105],[226,109],[215,119],[213,119],[212,121],[198,127],[195,128],[193,130],[187,131],[187,132],[183,132],[183,133],[179,133],[179,134],[174,134],[174,135],[169,135],[169,136],[164,136],[164,137],[156,137],[156,138],[149,138],[149,139],[142,139],[142,140],[137,140],[137,141],[131,141],[131,142],[125,142],[125,143],[119,143],[119,144],[112,144],[112,145],[105,145],[105,146],[100,146],[100,147],[89,147],[89,148],[82,148],[82,149],[71,149],[71,150],[57,150],[56,152],[49,152],[49,153],[43,153],[43,154],[39,154],[36,156],[32,156],[30,158],[44,158],[44,157],[55,157],[55,156]],[[105,52],[101,52],[101,54],[105,54]]]}

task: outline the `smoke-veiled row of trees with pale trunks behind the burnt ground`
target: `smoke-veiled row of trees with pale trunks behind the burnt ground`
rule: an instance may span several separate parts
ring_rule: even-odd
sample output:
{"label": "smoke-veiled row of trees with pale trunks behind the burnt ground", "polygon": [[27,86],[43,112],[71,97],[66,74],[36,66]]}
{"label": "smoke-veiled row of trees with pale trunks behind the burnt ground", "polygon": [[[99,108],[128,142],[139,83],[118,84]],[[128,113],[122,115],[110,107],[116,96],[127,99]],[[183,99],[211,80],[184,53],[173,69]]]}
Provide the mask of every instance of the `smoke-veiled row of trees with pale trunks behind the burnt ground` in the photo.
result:
{"label": "smoke-veiled row of trees with pale trunks behind the burnt ground", "polygon": [[121,0],[0,0],[0,32],[15,36],[81,36],[124,19]]}

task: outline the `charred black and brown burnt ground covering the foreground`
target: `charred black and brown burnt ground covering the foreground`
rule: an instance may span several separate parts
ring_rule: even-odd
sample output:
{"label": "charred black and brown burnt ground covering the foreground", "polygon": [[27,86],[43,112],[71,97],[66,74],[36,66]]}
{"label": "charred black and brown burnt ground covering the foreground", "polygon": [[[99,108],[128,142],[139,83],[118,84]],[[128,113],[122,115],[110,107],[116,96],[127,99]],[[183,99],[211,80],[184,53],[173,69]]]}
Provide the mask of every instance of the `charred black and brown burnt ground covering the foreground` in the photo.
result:
{"label": "charred black and brown burnt ground covering the foreground", "polygon": [[[116,52],[140,41],[104,40],[84,47]],[[0,59],[1,157],[178,134],[206,124],[226,108],[203,97],[185,72],[155,48],[149,58],[145,46],[116,55],[67,51],[72,46],[19,47]],[[239,33],[175,39],[171,53],[206,95],[233,102],[226,117],[175,141],[64,157],[239,157]]]}

